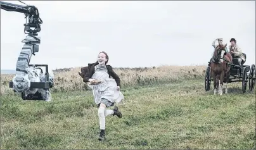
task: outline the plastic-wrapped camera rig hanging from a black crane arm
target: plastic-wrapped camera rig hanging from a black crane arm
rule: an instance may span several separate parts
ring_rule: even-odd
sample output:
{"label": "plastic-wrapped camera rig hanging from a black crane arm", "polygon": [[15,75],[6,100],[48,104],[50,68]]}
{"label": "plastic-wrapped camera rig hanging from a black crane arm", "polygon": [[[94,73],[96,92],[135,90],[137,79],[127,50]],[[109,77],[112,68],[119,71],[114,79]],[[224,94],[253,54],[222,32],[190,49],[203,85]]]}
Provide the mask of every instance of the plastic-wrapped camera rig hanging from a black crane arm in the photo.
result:
{"label": "plastic-wrapped camera rig hanging from a black crane arm", "polygon": [[[38,32],[41,31],[42,20],[39,16],[38,9],[35,6],[22,6],[3,1],[0,1],[0,4],[1,9],[24,13],[26,18],[24,33],[27,34],[27,36],[22,41],[25,44],[22,47],[20,56],[18,56],[16,75],[13,77],[13,80],[9,82],[9,87],[13,88],[14,92],[21,93],[23,100],[51,101],[49,89],[53,87],[53,78],[49,78],[48,65],[29,64],[32,54],[35,55],[35,53],[39,52],[39,44],[41,43]],[[35,66],[46,67],[46,73],[44,75],[42,75],[42,69],[39,68],[41,70],[40,79],[40,73],[34,71],[36,69]],[[36,82],[33,82],[34,79],[32,77],[37,77]]]}

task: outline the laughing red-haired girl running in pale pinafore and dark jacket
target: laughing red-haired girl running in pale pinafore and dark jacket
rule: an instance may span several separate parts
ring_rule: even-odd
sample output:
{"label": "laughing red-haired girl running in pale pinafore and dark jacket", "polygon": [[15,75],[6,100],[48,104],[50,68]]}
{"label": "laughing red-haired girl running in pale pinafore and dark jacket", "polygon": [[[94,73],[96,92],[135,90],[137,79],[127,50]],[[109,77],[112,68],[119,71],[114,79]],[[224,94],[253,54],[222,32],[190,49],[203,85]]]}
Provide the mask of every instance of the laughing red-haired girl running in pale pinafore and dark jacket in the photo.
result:
{"label": "laughing red-haired girl running in pale pinafore and dark jacket", "polygon": [[122,118],[122,113],[117,106],[113,110],[106,108],[114,106],[115,102],[120,103],[124,99],[124,95],[120,92],[120,78],[112,70],[112,66],[106,65],[107,63],[108,54],[102,51],[99,53],[96,63],[88,64],[88,71],[84,77],[84,82],[90,82],[89,87],[93,90],[94,101],[99,108],[99,141],[105,140],[105,117],[116,115],[118,118]]}

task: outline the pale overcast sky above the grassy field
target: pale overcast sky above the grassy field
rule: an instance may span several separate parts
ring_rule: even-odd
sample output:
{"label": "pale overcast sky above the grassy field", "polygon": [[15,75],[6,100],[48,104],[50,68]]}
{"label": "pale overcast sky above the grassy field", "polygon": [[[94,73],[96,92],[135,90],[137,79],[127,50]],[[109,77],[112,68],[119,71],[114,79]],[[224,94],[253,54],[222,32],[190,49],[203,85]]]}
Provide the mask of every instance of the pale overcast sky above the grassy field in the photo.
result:
{"label": "pale overcast sky above the grassy field", "polygon": [[[255,64],[255,1],[23,2],[43,21],[30,64],[87,66],[106,51],[113,67],[207,65],[217,38],[235,38]],[[16,68],[24,16],[1,9],[1,69]]]}

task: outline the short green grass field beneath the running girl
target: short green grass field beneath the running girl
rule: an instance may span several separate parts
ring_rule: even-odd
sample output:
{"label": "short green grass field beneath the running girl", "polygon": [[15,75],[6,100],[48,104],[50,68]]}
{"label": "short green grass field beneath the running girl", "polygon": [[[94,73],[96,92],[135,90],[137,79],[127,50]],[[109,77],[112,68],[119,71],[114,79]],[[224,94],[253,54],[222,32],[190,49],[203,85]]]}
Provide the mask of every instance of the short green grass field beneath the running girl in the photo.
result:
{"label": "short green grass field beneath the running girl", "polygon": [[255,92],[204,91],[203,80],[124,89],[123,118],[106,117],[98,142],[91,91],[53,93],[53,101],[1,97],[1,149],[255,149]]}

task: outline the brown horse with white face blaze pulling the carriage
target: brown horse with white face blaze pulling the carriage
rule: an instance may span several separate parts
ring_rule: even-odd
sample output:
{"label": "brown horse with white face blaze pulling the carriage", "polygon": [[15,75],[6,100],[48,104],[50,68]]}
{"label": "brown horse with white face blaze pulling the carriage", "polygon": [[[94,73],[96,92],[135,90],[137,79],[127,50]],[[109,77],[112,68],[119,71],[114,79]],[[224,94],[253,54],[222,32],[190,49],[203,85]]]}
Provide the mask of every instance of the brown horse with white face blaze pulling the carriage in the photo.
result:
{"label": "brown horse with white face blaze pulling the carriage", "polygon": [[[228,63],[232,63],[232,56],[230,53],[225,51],[227,44],[219,45],[214,50],[214,57],[210,62],[211,75],[214,79],[214,94],[217,92],[217,87],[219,87],[219,94],[222,96],[222,88],[224,79],[226,79],[226,94],[227,94],[227,84],[229,82],[230,68]],[[226,59],[226,60],[224,60]],[[227,63],[227,62],[228,63]],[[220,80],[220,83],[219,83]]]}

